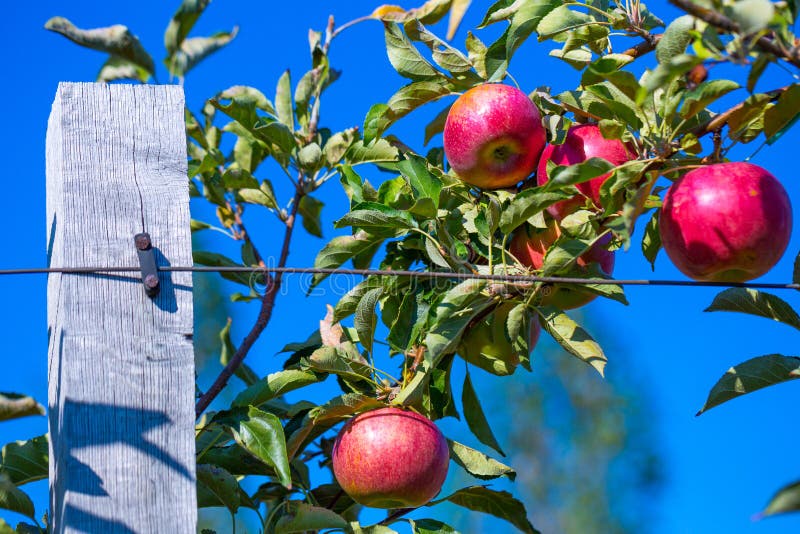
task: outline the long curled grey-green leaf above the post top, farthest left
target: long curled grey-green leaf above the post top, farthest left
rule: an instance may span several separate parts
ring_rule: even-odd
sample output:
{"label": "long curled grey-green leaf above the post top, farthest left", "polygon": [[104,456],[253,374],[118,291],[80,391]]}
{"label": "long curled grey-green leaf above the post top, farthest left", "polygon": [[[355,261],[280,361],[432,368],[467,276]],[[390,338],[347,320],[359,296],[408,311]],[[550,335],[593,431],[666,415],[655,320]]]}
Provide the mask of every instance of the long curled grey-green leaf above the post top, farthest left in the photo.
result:
{"label": "long curled grey-green leaf above the post top, farthest left", "polygon": [[153,58],[126,26],[116,24],[107,28],[82,30],[64,17],[53,17],[44,25],[46,30],[59,33],[80,46],[107,52],[112,56],[127,59],[150,74],[155,72]]}

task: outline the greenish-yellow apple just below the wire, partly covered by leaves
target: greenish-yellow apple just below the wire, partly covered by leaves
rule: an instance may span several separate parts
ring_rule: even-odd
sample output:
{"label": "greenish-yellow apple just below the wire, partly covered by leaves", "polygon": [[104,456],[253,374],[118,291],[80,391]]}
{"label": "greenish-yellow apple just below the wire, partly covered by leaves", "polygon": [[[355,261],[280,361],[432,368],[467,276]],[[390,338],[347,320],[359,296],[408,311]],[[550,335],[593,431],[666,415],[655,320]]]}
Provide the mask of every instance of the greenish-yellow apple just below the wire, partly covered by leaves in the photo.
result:
{"label": "greenish-yellow apple just below the wire, partly covered by leaves", "polygon": [[[514,373],[519,365],[519,355],[506,337],[506,319],[515,303],[500,305],[491,315],[473,326],[461,339],[458,353],[467,362],[498,376]],[[542,327],[534,318],[531,321],[528,350],[533,351],[539,341]]]}

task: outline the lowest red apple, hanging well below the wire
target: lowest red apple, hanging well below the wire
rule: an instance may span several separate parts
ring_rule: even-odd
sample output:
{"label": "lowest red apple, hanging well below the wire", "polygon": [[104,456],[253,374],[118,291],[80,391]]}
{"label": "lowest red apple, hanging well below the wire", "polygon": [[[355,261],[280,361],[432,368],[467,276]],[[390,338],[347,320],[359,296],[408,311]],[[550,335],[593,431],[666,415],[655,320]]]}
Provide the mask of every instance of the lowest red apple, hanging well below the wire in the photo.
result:
{"label": "lowest red apple, hanging well below the wire", "polygon": [[447,440],[433,421],[393,407],[353,417],[333,445],[339,485],[373,508],[427,503],[442,488],[449,461]]}

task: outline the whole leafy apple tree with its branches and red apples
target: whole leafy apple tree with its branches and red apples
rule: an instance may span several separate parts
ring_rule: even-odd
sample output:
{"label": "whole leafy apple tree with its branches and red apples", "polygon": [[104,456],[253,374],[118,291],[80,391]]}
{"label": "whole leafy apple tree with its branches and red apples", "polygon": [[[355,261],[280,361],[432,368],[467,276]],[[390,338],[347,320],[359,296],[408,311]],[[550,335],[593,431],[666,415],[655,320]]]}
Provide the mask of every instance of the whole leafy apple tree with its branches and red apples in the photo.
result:
{"label": "whole leafy apple tree with its branches and red apples", "polygon": [[[331,18],[323,31],[310,32],[310,70],[294,88],[287,71],[274,99],[234,86],[210,98],[200,115],[187,110],[191,192],[212,205],[218,219],[193,221],[193,229],[241,243],[241,259],[196,251],[196,263],[263,266],[269,255],[256,249],[243,214],[265,209],[285,227],[275,255],[286,265],[298,217],[308,233],[321,236],[318,191],[337,179],[350,205],[335,226],[350,231],[319,251],[315,267],[352,262],[394,271],[587,280],[368,276],[307,340],[286,345],[280,370],[259,378],[264,373],[245,358],[268,330],[280,274],[223,274],[245,289],[233,300],[258,302],[260,313],[238,347],[227,327],[226,365],[198,395],[200,506],[223,506],[231,514],[251,508],[264,532],[391,532],[401,521],[414,532],[452,532],[438,520],[405,518],[412,509],[449,502],[536,531],[524,504],[508,492],[476,483],[438,496],[450,460],[479,481],[515,476],[512,467],[447,439],[435,424],[459,416],[450,384],[454,362],[498,377],[519,367],[530,371],[543,330],[602,374],[606,354],[565,310],[598,297],[627,304],[622,287],[592,281],[611,279],[615,257],[631,246],[637,224],[645,225],[641,250],[651,264],[663,248],[697,281],[760,277],[781,259],[791,236],[792,207],[780,180],[727,156],[737,145],[776,142],[800,115],[800,84],[755,91],[770,65],[797,77],[797,4],[672,3],[687,14],[665,24],[638,1],[500,1],[488,7],[463,49],[450,39],[470,2],[380,6],[352,23],[336,27]],[[173,79],[183,82],[236,36],[233,29],[188,37],[206,5],[185,0],[170,22],[165,63]],[[440,37],[434,28],[448,14],[447,36]],[[373,105],[363,127],[330,132],[319,124],[325,90],[339,75],[330,65],[331,43],[364,21],[383,25],[388,60],[407,83]],[[504,31],[484,43],[480,30],[492,25]],[[151,56],[127,28],[82,30],[63,18],[51,19],[47,28],[107,52],[101,81],[148,82],[155,74]],[[509,71],[515,53],[553,44],[550,55],[580,72],[579,86],[558,94],[517,87]],[[651,52],[655,61],[641,66]],[[744,88],[714,76],[723,64],[746,71]],[[643,74],[635,76],[634,67]],[[741,89],[744,98],[713,111]],[[447,104],[424,131],[426,143],[442,134],[441,147],[423,153],[387,133],[440,100]],[[223,139],[233,142],[229,153]],[[267,161],[291,183],[283,204],[270,180],[256,178]],[[376,187],[359,174],[362,165],[391,177]],[[312,286],[326,276],[316,275]],[[800,282],[797,271],[794,282]],[[798,324],[788,303],[752,289],[726,289],[708,310]],[[380,323],[384,339],[376,338]],[[750,378],[732,387],[739,375]],[[246,388],[208,412],[233,376]],[[720,379],[701,412],[798,376],[797,358],[751,359]],[[329,377],[340,389],[335,397],[285,400],[286,393]],[[503,454],[469,375],[466,380],[460,415],[480,443]],[[331,469],[331,482],[312,480],[305,467],[312,458]],[[214,477],[204,476],[211,470]],[[245,478],[261,481],[256,492],[245,492]],[[793,484],[764,514],[797,511],[798,503],[800,488]],[[362,526],[362,506],[393,511]]]}

